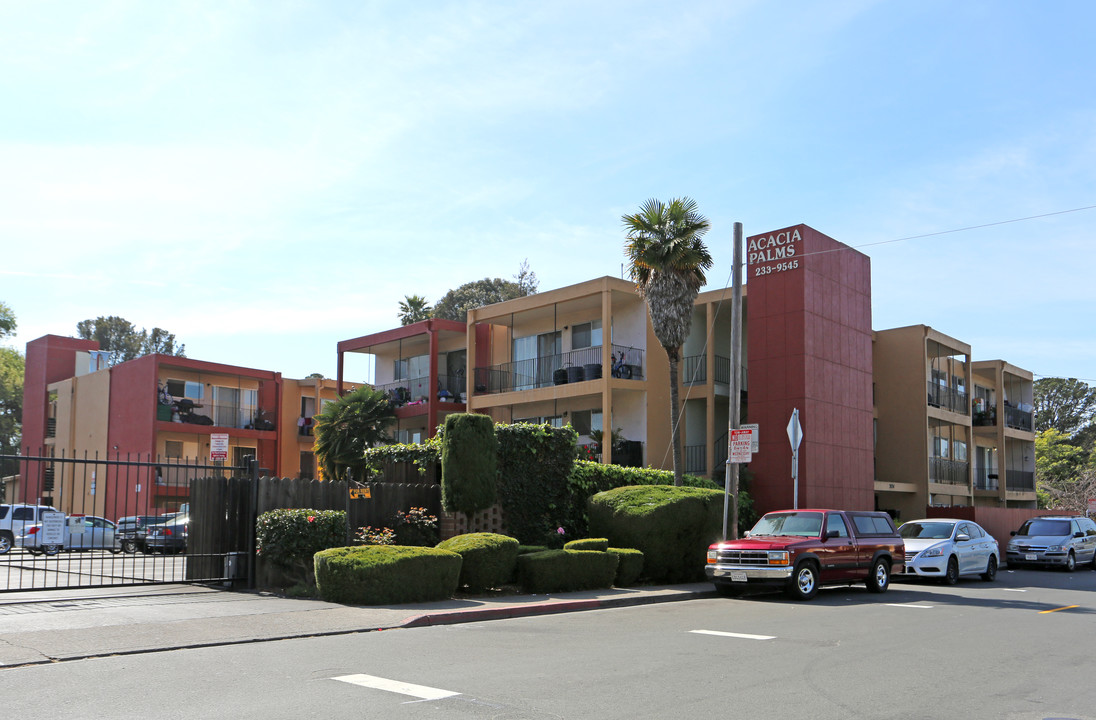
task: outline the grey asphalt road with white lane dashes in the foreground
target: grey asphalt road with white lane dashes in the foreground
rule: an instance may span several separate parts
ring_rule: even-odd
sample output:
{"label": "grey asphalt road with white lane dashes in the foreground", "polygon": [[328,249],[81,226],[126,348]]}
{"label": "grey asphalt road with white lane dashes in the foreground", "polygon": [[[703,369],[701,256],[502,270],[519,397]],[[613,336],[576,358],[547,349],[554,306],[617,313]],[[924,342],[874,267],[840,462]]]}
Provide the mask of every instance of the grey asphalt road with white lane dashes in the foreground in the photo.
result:
{"label": "grey asphalt road with white lane dashes in the foreground", "polygon": [[8,717],[1096,720],[1096,572],[900,581],[0,671]]}

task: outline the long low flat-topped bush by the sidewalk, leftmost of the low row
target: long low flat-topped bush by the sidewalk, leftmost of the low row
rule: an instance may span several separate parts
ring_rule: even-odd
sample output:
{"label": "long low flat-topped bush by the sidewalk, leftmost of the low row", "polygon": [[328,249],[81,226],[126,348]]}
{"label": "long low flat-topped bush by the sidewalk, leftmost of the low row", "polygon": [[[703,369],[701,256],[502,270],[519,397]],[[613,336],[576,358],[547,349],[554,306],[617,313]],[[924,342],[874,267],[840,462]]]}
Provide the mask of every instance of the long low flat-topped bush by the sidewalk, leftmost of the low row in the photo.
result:
{"label": "long low flat-topped bush by the sidewalk, leftmost of the low row", "polygon": [[329,603],[391,605],[452,597],[460,556],[437,548],[369,545],[316,553],[316,586]]}

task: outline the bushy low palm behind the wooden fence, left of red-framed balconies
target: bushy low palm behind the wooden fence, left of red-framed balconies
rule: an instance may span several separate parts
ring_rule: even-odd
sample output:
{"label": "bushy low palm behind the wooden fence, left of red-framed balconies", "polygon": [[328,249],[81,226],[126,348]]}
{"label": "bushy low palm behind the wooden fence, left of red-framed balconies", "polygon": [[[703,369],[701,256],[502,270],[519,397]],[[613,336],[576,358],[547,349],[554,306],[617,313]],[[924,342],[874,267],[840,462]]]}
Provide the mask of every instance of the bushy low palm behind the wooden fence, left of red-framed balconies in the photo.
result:
{"label": "bushy low palm behind the wooden fence, left of red-framed balconies", "polygon": [[316,460],[323,477],[341,480],[349,469],[352,478],[364,479],[365,450],[389,442],[385,427],[393,420],[388,396],[367,386],[329,402],[313,419]]}

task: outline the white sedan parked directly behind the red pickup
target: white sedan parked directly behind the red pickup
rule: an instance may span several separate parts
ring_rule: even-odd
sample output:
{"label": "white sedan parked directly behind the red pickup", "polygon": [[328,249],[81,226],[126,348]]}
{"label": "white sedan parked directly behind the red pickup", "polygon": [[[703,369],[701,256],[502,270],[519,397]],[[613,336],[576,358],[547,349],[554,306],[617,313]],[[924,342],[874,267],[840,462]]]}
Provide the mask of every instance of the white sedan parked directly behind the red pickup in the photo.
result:
{"label": "white sedan parked directly behind the red pickup", "polygon": [[905,542],[905,575],[935,578],[948,585],[960,575],[997,576],[997,540],[978,523],[950,517],[910,521],[898,528]]}

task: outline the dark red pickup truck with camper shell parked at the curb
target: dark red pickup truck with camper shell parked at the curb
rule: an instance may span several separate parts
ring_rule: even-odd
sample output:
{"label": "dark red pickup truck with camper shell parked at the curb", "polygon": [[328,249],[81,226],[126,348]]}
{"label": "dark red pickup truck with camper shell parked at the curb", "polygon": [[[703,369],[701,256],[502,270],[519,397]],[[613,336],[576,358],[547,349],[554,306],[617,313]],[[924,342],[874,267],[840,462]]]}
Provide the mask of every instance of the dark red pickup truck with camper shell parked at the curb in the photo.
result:
{"label": "dark red pickup truck with camper shell parked at the curb", "polygon": [[859,582],[883,593],[904,562],[905,546],[887,513],[786,510],[766,514],[741,540],[709,547],[705,573],[722,595],[768,585],[810,599],[823,585]]}

